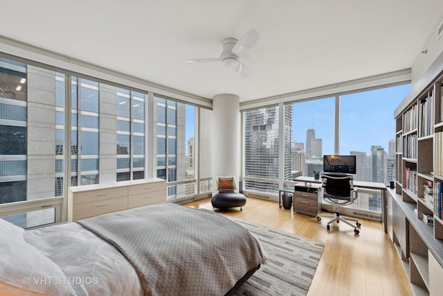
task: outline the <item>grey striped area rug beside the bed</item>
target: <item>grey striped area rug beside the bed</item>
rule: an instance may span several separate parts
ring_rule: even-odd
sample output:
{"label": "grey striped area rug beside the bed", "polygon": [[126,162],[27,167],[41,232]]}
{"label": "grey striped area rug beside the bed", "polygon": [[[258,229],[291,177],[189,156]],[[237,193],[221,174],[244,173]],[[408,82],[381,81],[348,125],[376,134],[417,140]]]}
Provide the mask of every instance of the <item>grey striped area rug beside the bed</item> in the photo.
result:
{"label": "grey striped area rug beside the bed", "polygon": [[324,244],[309,238],[231,218],[248,229],[266,253],[262,264],[234,295],[307,295]]}

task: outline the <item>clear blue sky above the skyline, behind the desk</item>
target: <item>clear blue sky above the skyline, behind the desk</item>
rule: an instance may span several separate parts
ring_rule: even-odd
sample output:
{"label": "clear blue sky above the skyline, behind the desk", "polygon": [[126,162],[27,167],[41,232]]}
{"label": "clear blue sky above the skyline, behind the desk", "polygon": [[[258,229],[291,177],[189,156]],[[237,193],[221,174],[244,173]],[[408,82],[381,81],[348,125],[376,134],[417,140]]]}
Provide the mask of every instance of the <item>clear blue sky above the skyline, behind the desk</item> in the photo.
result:
{"label": "clear blue sky above the skyline, behind the desk", "polygon": [[[394,110],[409,92],[407,84],[341,96],[339,154],[370,153],[377,145],[388,152],[388,141],[395,139]],[[305,143],[307,129],[314,128],[323,155],[334,154],[334,105],[335,98],[293,104],[292,140]]]}

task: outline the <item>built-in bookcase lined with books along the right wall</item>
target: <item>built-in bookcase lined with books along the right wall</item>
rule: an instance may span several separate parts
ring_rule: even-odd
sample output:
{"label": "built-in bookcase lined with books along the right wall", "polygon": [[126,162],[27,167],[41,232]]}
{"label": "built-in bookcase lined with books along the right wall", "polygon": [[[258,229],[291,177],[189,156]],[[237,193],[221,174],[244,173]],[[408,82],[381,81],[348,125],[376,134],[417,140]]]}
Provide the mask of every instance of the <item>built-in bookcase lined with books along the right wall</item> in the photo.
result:
{"label": "built-in bookcase lined with books along the right wall", "polygon": [[[388,209],[393,216],[388,229],[397,240],[401,259],[408,259],[407,275],[414,294],[442,295],[443,220],[435,213],[439,197],[433,196],[431,202],[428,189],[443,182],[443,176],[434,175],[440,159],[435,151],[440,134],[436,133],[443,132],[443,53],[397,107],[395,126],[395,151],[402,153],[395,156],[399,188],[388,190],[392,198],[388,204],[393,208]],[[433,225],[422,219],[424,215],[433,216]]]}

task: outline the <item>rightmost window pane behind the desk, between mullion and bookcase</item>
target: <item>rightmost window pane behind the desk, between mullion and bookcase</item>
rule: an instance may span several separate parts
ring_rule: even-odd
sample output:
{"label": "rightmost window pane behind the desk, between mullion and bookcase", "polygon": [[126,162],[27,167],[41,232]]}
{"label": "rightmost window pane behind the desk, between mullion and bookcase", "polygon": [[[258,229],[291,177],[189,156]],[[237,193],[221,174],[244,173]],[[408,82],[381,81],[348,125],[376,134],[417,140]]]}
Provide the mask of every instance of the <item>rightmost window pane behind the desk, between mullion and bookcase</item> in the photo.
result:
{"label": "rightmost window pane behind the desk, between mullion and bookcase", "polygon": [[340,154],[356,155],[354,180],[383,184],[395,180],[392,110],[409,92],[408,84],[341,96]]}

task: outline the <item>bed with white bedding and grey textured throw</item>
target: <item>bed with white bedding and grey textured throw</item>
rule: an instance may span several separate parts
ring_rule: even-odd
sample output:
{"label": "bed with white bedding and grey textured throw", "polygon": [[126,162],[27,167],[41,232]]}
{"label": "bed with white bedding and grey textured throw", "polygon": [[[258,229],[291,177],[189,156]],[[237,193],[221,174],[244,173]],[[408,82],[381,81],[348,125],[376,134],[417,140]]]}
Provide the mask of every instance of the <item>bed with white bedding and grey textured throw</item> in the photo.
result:
{"label": "bed with white bedding and grey textured throw", "polygon": [[24,231],[0,219],[1,295],[229,295],[266,261],[219,214],[140,207]]}

